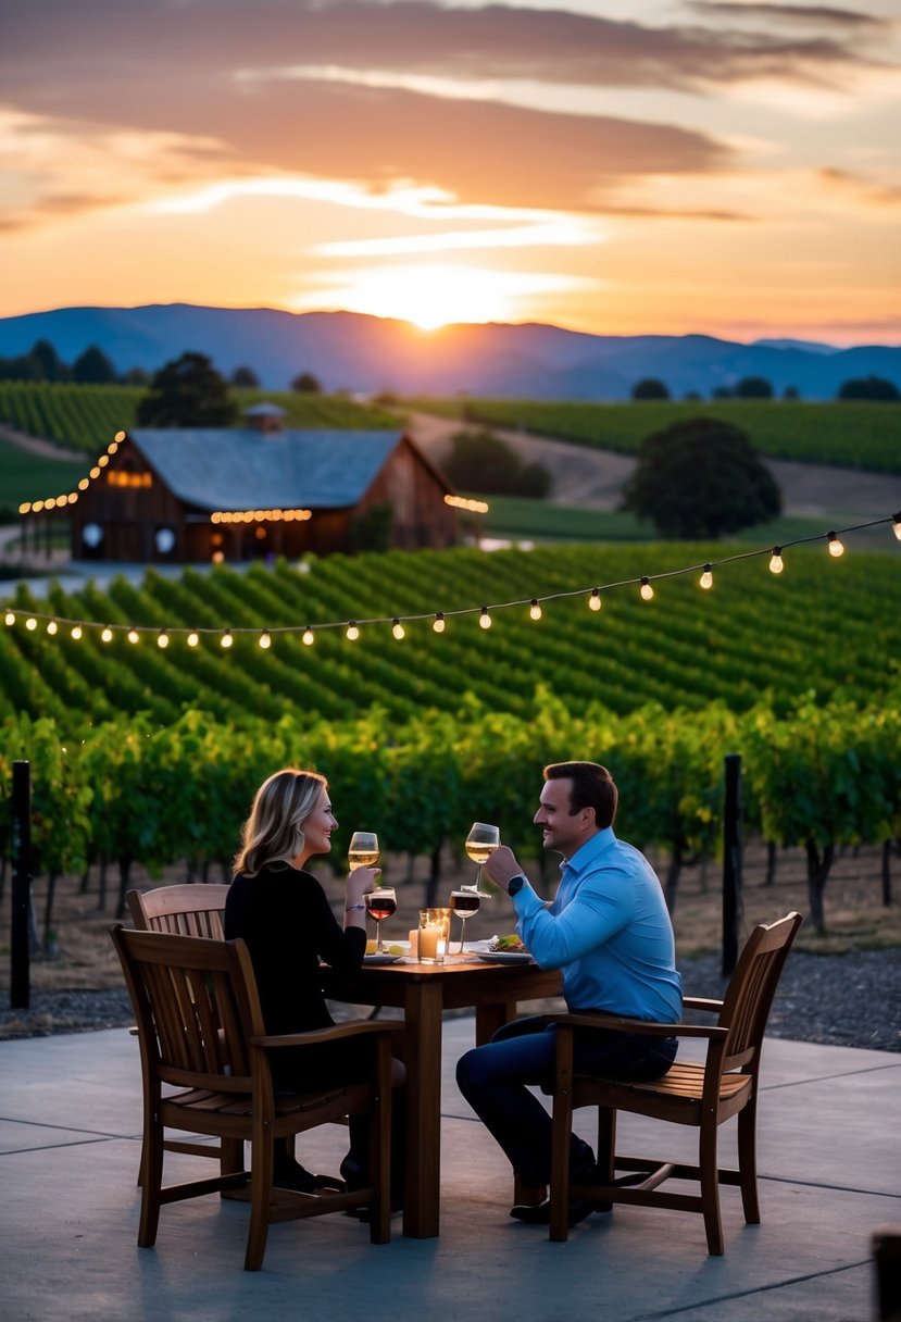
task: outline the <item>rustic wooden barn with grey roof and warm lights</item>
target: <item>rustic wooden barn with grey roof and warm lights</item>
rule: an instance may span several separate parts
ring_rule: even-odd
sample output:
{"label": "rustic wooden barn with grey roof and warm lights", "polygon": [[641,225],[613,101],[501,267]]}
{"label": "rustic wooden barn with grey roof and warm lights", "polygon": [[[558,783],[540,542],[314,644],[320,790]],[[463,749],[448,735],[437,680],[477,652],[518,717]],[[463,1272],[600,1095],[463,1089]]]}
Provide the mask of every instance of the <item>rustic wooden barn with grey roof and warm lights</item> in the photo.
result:
{"label": "rustic wooden barn with grey roof and warm lights", "polygon": [[230,562],[454,543],[453,490],[404,432],[296,431],[280,414],[263,405],[243,428],[127,432],[66,509],[73,557]]}

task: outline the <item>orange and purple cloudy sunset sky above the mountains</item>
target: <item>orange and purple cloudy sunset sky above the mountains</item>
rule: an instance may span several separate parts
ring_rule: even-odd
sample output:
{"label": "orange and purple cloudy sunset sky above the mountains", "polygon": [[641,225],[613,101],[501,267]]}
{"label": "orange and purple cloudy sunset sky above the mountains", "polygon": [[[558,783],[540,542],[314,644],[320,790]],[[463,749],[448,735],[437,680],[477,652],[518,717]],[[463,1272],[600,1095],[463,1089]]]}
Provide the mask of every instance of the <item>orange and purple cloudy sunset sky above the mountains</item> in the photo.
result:
{"label": "orange and purple cloudy sunset sky above the mountains", "polygon": [[0,0],[0,316],[901,342],[897,0]]}

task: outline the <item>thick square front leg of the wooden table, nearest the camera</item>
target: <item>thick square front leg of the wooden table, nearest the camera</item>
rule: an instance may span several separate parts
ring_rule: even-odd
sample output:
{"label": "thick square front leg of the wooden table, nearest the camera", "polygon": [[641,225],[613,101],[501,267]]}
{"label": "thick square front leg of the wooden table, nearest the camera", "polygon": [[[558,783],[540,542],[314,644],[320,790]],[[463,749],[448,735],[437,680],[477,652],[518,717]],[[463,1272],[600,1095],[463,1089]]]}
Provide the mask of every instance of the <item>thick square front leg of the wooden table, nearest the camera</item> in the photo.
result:
{"label": "thick square front leg of the wooden table, nearest the camera", "polygon": [[439,978],[407,988],[407,1196],[403,1231],[439,1233],[441,1188],[441,1009]]}

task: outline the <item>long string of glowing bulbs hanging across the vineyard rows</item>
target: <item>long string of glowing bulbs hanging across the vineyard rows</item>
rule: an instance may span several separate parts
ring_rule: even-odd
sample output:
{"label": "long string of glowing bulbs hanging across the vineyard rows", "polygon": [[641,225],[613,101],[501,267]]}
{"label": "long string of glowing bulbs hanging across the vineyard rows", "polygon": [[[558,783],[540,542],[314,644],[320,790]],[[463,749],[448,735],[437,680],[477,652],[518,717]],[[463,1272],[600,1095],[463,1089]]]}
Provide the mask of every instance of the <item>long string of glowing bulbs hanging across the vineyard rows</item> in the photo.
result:
{"label": "long string of glowing bulbs hanging across the vineyard rows", "polygon": [[[57,501],[55,501],[55,504],[62,504],[66,500],[67,500],[66,497],[58,497]],[[36,510],[40,504],[41,502],[34,502],[34,505],[32,506],[32,509]],[[266,512],[263,510],[260,513],[266,513]],[[898,513],[896,513],[893,516],[889,516],[886,518],[875,518],[875,520],[871,520],[867,524],[857,524],[853,527],[844,527],[844,529],[839,529],[839,530],[830,530],[828,533],[818,533],[818,534],[814,534],[814,535],[810,535],[810,537],[799,537],[795,541],[789,542],[786,545],[787,546],[799,546],[801,543],[805,543],[805,542],[822,542],[826,538],[827,542],[828,542],[830,554],[831,555],[840,555],[844,551],[844,546],[840,542],[840,534],[842,533],[855,533],[855,531],[860,531],[861,529],[876,527],[876,526],[881,526],[884,524],[889,524],[892,526],[892,533],[901,542],[901,510],[898,510]],[[773,574],[781,574],[782,570],[783,570],[783,561],[782,561],[782,551],[783,551],[783,549],[785,547],[782,547],[782,546],[774,546],[772,549],[758,547],[757,550],[740,551],[736,555],[724,557],[721,561],[713,561],[713,562],[707,563],[707,564],[684,566],[683,568],[668,570],[666,572],[655,574],[655,575],[653,575],[653,578],[654,579],[678,578],[680,575],[696,572],[698,570],[700,570],[702,574],[700,574],[700,578],[698,579],[698,583],[699,583],[699,586],[702,588],[707,590],[707,588],[712,587],[712,583],[713,583],[713,570],[721,567],[723,564],[729,564],[729,563],[733,563],[736,561],[752,559],[754,557],[761,557],[761,555],[766,555],[766,554],[770,555],[770,564],[769,564],[769,567],[770,567],[772,572]],[[308,571],[308,570],[309,570],[309,564],[306,562],[301,562],[299,564],[299,571],[303,572],[303,571]],[[555,602],[555,600],[563,600],[565,598],[585,596],[585,594],[588,594],[588,607],[589,607],[589,609],[592,609],[592,611],[600,611],[601,609],[601,604],[602,604],[602,598],[601,598],[602,592],[610,591],[610,590],[617,588],[617,587],[626,587],[629,584],[635,584],[637,583],[639,586],[641,596],[645,600],[650,602],[654,598],[654,588],[651,587],[650,579],[651,579],[651,575],[642,575],[641,578],[625,579],[622,582],[616,582],[616,583],[606,583],[606,584],[602,584],[602,586],[598,586],[598,587],[593,587],[593,588],[580,587],[580,588],[567,590],[567,591],[563,591],[563,592],[551,592],[546,598],[543,598],[542,600],[544,600],[544,602]],[[221,628],[215,628],[215,627],[190,628],[188,625],[185,625],[185,627],[166,627],[166,628],[155,631],[149,625],[139,625],[139,627],[131,627],[128,629],[127,637],[128,637],[128,640],[131,642],[137,642],[137,641],[140,641],[140,636],[141,636],[143,632],[148,632],[148,633],[156,632],[157,646],[160,646],[161,649],[164,649],[164,648],[166,648],[169,645],[169,641],[170,641],[170,639],[172,639],[173,635],[174,636],[184,636],[189,648],[198,646],[199,640],[201,640],[201,635],[213,635],[213,636],[218,636],[222,648],[227,649],[227,648],[231,648],[231,645],[234,642],[234,635],[235,633],[251,633],[256,639],[258,644],[262,648],[266,649],[266,648],[272,646],[273,636],[276,633],[287,633],[287,635],[301,633],[301,641],[306,646],[310,646],[313,644],[313,641],[314,641],[314,631],[318,631],[318,629],[343,628],[346,637],[349,639],[349,641],[353,642],[353,641],[355,641],[359,637],[359,632],[361,632],[359,624],[362,623],[363,625],[369,625],[369,624],[373,624],[373,625],[375,625],[375,624],[390,624],[391,625],[391,631],[394,633],[394,637],[398,639],[398,640],[400,640],[400,639],[406,637],[406,632],[407,631],[404,628],[404,624],[408,623],[408,621],[411,621],[411,620],[428,619],[428,620],[432,621],[432,629],[433,629],[435,633],[444,633],[445,628],[447,628],[447,620],[448,620],[448,617],[450,615],[474,615],[474,613],[478,612],[480,627],[482,629],[490,629],[491,625],[493,625],[493,623],[494,623],[494,617],[491,615],[491,611],[501,611],[501,609],[507,609],[510,607],[518,607],[518,605],[527,605],[528,607],[528,615],[530,615],[530,617],[532,620],[543,619],[542,602],[539,600],[539,598],[532,596],[532,598],[521,599],[518,602],[499,602],[499,603],[495,603],[490,608],[487,605],[482,605],[482,607],[468,605],[468,607],[460,607],[460,608],[457,608],[454,611],[449,611],[449,612],[436,611],[435,613],[429,612],[429,613],[424,613],[424,615],[410,615],[410,616],[391,615],[391,616],[387,616],[387,617],[382,616],[382,617],[367,619],[367,620],[363,620],[363,621],[357,621],[357,620],[349,620],[349,621],[340,621],[340,620],[321,621],[321,623],[317,623],[316,625],[308,624],[303,629],[303,633],[301,633],[301,631],[300,631],[300,628],[297,625],[292,625],[292,624],[280,625],[279,628],[268,628],[268,629],[259,629],[259,628],[247,627],[247,628],[225,629],[225,631],[222,631]],[[124,625],[122,625],[122,624],[110,625],[110,624],[103,624],[102,621],[98,621],[98,620],[73,620],[73,619],[65,619],[65,617],[53,616],[50,613],[44,615],[40,611],[34,611],[34,612],[28,612],[26,613],[25,611],[22,611],[21,608],[17,608],[17,607],[7,607],[3,619],[4,619],[4,621],[5,621],[5,624],[7,624],[8,628],[12,628],[21,619],[22,623],[25,624],[25,628],[29,629],[29,631],[34,631],[37,628],[38,621],[46,621],[46,632],[48,632],[49,636],[54,636],[59,631],[61,627],[65,627],[65,628],[67,628],[70,631],[69,636],[73,640],[75,640],[75,641],[78,641],[81,637],[83,637],[83,632],[85,632],[86,628],[96,629],[98,633],[99,633],[99,637],[100,637],[100,640],[103,642],[111,642],[116,632],[124,632]]]}

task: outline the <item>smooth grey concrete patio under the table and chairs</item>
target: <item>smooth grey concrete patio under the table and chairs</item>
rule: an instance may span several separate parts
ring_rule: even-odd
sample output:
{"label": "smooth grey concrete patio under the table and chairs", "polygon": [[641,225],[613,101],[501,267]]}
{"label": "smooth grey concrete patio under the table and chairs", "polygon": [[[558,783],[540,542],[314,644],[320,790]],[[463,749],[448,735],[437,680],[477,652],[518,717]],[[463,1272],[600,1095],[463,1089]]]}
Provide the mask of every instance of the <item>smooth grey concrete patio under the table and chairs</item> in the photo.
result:
{"label": "smooth grey concrete patio under the table and chairs", "polygon": [[[873,1322],[871,1233],[901,1223],[901,1056],[768,1040],[762,1224],[745,1225],[724,1188],[727,1255],[713,1259],[699,1216],[618,1207],[567,1244],[513,1222],[509,1169],[453,1081],[473,1039],[473,1019],[445,1022],[440,1239],[404,1239],[399,1218],[382,1247],[349,1218],[293,1222],[271,1228],[254,1274],[242,1269],[247,1208],[217,1196],[164,1207],[156,1248],[136,1247],[140,1064],[127,1030],[0,1043],[0,1315]],[[580,1129],[591,1138],[588,1112]],[[622,1117],[620,1129],[621,1150],[691,1150],[675,1126]],[[336,1170],[345,1138],[325,1126],[300,1155]],[[192,1167],[210,1173],[166,1158],[169,1181]]]}

